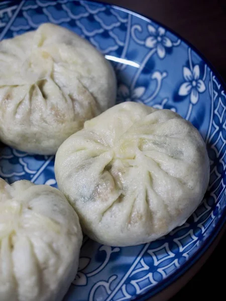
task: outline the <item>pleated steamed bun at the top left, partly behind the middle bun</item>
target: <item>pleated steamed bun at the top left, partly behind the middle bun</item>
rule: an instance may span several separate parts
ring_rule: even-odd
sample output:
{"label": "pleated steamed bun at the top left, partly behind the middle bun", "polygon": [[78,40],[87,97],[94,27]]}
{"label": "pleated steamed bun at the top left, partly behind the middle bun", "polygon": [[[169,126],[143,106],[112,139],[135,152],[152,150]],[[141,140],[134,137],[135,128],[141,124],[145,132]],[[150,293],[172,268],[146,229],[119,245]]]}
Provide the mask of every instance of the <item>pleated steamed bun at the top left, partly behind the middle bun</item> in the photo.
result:
{"label": "pleated steamed bun at the top left, partly behind the middle bun", "polygon": [[86,40],[53,24],[0,42],[0,139],[53,155],[88,120],[115,104],[116,77]]}

